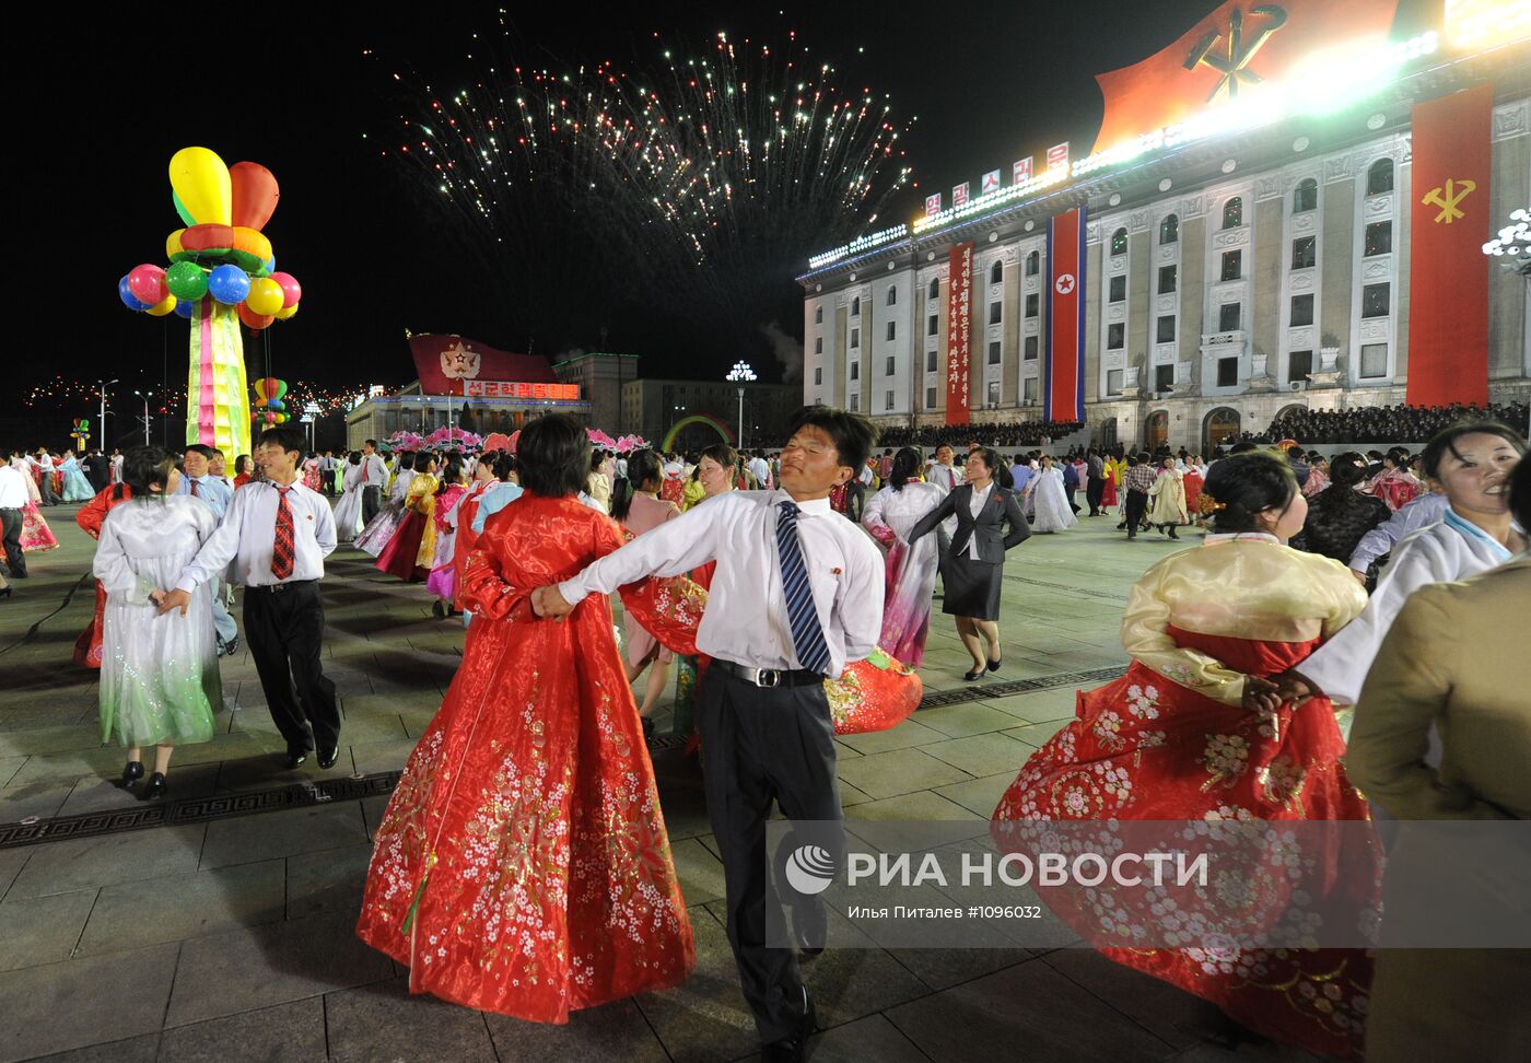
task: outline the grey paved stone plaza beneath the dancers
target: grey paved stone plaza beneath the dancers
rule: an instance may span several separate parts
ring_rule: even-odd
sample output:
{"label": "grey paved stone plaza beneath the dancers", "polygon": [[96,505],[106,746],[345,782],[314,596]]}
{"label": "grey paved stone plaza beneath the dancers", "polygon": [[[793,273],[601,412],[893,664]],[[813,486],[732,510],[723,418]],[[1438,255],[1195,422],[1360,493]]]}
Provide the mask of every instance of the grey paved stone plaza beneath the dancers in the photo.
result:
{"label": "grey paved stone plaza beneath the dancers", "polygon": [[[340,763],[282,770],[240,651],[224,663],[217,737],[176,751],[171,801],[150,807],[115,786],[122,754],[100,744],[95,672],[69,662],[93,600],[92,544],[73,509],[46,510],[63,547],[32,554],[32,577],[0,602],[0,1060],[753,1055],[721,922],[723,865],[677,743],[657,741],[654,760],[697,937],[689,982],[579,1012],[568,1028],[410,997],[404,970],[352,925],[387,774],[461,659],[456,622],[433,620],[421,587],[343,547],[325,582]],[[1113,525],[1085,519],[1010,553],[997,675],[963,683],[966,653],[946,617],[932,620],[926,708],[841,740],[848,818],[987,818],[1072,715],[1075,674],[1096,672],[1093,685],[1125,665],[1118,623],[1133,579],[1199,541],[1128,544]],[[173,824],[145,826],[168,813]],[[35,827],[15,824],[34,818],[75,836],[29,842]],[[1214,1046],[1216,1009],[1089,950],[830,950],[804,973],[825,1028],[810,1046],[821,1061],[1312,1058]]]}

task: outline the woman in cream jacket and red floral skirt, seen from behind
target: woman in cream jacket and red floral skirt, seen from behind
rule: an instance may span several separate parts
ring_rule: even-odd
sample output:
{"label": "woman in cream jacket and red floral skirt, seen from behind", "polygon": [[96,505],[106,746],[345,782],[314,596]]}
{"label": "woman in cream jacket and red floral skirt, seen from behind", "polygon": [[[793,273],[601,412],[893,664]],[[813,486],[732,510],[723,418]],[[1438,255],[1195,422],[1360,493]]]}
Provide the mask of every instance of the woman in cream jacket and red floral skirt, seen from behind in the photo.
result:
{"label": "woman in cream jacket and red floral skirt, seen from behind", "polygon": [[[1223,458],[1208,472],[1202,510],[1217,513],[1217,533],[1153,565],[1133,587],[1122,617],[1133,656],[1127,675],[1081,691],[1075,720],[1021,769],[994,812],[1001,845],[1027,821],[1369,818],[1340,764],[1344,743],[1329,702],[1281,703],[1268,679],[1355,619],[1366,593],[1340,562],[1280,544],[1277,536],[1294,535],[1307,512],[1280,458]],[[1344,911],[1349,925],[1375,917],[1378,852],[1369,827],[1364,838],[1329,850],[1294,887],[1314,895],[1289,891],[1288,907],[1272,905],[1271,916],[1323,908]],[[1041,893],[1076,931],[1102,937],[1101,916],[1087,902]],[[1372,973],[1364,951],[1214,948],[1199,939],[1185,948],[1102,953],[1265,1035],[1361,1055]]]}

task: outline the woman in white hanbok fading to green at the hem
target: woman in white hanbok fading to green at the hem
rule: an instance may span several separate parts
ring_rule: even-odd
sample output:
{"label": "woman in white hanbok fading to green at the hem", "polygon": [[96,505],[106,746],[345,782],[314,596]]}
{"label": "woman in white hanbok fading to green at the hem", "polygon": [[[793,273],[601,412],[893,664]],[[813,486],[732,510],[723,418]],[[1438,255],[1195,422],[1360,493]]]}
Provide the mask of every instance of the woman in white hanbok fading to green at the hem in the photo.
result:
{"label": "woman in white hanbok fading to green at the hem", "polygon": [[170,752],[213,738],[222,708],[213,596],[204,584],[185,613],[158,611],[162,591],[213,535],[213,510],[176,495],[181,473],[159,447],[133,447],[122,464],[133,498],[101,522],[95,576],[106,591],[101,614],[101,741],[127,747],[122,786],[144,777],[142,747],[156,746],[145,798],[165,795]]}

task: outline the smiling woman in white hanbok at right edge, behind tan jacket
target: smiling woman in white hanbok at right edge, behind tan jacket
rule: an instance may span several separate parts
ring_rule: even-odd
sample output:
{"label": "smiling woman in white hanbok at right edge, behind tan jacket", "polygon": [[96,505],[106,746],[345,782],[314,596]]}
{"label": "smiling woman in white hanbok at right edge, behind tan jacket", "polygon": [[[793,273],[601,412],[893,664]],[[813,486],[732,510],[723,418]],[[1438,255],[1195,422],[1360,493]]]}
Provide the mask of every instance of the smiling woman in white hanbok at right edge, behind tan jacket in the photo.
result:
{"label": "smiling woman in white hanbok at right edge, behind tan jacket", "polygon": [[[1376,581],[1366,611],[1288,674],[1288,695],[1323,694],[1355,705],[1382,639],[1404,602],[1427,584],[1467,579],[1497,568],[1525,550],[1525,528],[1510,519],[1510,475],[1526,444],[1505,424],[1465,424],[1436,433],[1422,467],[1450,504],[1438,524],[1404,536]],[[1343,721],[1349,734],[1349,720]],[[1427,763],[1439,761],[1441,743],[1430,737]]]}

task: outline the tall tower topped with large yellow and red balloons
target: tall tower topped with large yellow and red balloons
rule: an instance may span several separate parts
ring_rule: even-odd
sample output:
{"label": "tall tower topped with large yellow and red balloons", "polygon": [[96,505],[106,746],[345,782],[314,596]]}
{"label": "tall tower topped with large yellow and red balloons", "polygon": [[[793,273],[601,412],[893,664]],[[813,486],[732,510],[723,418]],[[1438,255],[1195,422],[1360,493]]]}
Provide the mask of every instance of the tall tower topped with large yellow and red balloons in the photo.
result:
{"label": "tall tower topped with large yellow and red balloons", "polygon": [[165,239],[170,265],[135,267],[118,282],[118,296],[132,311],[191,322],[187,443],[219,447],[233,460],[250,453],[239,325],[259,332],[292,317],[303,289],[276,271],[271,240],[260,233],[280,195],[268,168],[228,167],[205,147],[184,147],[170,159],[170,188],[185,222]]}

